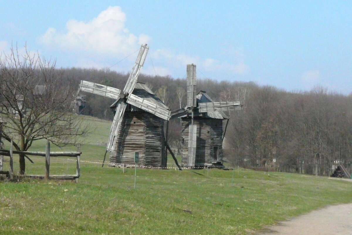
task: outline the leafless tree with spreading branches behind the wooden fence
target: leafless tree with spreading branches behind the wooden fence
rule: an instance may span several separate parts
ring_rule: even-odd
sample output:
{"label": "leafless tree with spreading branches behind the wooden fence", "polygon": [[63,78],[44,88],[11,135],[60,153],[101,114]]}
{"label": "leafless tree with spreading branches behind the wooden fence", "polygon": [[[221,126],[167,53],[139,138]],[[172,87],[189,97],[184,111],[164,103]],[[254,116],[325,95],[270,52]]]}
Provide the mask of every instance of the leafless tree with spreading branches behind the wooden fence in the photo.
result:
{"label": "leafless tree with spreading branches behind the wooden fence", "polygon": [[[55,61],[30,55],[26,47],[20,55],[12,47],[0,57],[0,115],[6,121],[1,137],[12,139],[17,151],[27,151],[39,139],[58,146],[77,143],[89,128],[70,112],[76,89]],[[25,157],[19,155],[20,174],[25,173]]]}

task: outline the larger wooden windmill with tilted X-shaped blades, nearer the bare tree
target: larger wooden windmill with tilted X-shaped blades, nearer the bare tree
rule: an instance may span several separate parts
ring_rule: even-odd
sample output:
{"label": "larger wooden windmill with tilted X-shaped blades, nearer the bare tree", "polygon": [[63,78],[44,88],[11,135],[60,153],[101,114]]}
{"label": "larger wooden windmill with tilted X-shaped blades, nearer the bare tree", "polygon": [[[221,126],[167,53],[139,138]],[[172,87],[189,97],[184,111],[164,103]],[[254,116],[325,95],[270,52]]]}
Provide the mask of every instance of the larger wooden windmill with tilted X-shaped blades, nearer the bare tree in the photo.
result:
{"label": "larger wooden windmill with tilted X-shaped blades, nearer the bare tree", "polygon": [[[166,167],[164,120],[169,120],[170,109],[143,83],[137,83],[149,47],[142,45],[121,91],[88,81],[81,81],[80,90],[113,98],[115,115],[106,152],[110,165],[133,164],[134,152],[139,152],[139,165]],[[105,157],[104,157],[105,159]]]}

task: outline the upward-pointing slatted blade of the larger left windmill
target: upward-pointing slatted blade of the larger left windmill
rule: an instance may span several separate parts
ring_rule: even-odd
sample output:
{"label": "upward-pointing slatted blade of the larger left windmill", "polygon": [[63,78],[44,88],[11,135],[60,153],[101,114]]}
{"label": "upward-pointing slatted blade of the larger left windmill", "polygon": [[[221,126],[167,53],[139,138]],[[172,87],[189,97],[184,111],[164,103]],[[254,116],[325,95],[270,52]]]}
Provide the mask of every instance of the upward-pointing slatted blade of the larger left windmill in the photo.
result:
{"label": "upward-pointing slatted blade of the larger left windmill", "polygon": [[126,94],[132,93],[134,87],[136,86],[139,71],[144,65],[144,61],[147,56],[148,50],[149,50],[149,47],[147,47],[147,44],[144,44],[140,47],[136,63],[132,68],[130,77],[128,77],[127,83],[124,88],[124,92]]}

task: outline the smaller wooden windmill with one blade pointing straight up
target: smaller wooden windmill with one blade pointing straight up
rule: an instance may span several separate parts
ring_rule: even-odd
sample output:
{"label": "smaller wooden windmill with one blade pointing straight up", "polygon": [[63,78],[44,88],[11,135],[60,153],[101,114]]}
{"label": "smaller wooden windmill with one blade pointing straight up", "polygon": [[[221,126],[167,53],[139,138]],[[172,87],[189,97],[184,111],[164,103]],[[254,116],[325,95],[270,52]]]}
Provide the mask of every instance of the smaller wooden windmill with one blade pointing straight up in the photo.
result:
{"label": "smaller wooden windmill with one blade pointing straight up", "polygon": [[[222,165],[223,111],[241,109],[240,102],[213,102],[205,91],[196,94],[196,65],[187,65],[187,106],[171,112],[181,118],[182,162],[188,167]],[[227,126],[227,123],[226,123]]]}

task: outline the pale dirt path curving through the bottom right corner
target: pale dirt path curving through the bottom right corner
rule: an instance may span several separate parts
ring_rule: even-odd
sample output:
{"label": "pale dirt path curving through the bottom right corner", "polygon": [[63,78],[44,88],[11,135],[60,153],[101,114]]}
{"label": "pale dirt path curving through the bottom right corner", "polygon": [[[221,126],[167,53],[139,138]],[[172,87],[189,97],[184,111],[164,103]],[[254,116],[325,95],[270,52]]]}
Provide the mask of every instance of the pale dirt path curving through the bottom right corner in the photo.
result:
{"label": "pale dirt path curving through the bottom right corner", "polygon": [[333,205],[312,211],[309,214],[268,227],[257,234],[352,235],[352,203]]}

